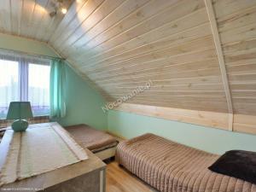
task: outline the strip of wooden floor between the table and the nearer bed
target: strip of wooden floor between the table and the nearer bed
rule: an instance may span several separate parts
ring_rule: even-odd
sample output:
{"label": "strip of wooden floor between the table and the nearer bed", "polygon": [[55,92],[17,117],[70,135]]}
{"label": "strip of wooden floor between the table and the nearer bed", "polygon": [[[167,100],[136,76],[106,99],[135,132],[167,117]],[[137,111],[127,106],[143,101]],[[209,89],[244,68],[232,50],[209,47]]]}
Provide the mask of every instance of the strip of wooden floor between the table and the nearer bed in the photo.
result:
{"label": "strip of wooden floor between the table and the nearer bed", "polygon": [[147,183],[126,172],[116,161],[107,166],[107,192],[156,192]]}

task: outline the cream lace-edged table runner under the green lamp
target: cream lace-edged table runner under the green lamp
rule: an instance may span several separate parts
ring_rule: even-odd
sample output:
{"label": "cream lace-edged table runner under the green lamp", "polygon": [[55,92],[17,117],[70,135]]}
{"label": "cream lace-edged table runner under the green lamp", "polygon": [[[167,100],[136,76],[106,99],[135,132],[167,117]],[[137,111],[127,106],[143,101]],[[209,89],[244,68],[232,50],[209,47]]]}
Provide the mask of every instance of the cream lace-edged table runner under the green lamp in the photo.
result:
{"label": "cream lace-edged table runner under the green lamp", "polygon": [[57,123],[12,132],[9,153],[0,170],[0,186],[88,159],[84,149]]}

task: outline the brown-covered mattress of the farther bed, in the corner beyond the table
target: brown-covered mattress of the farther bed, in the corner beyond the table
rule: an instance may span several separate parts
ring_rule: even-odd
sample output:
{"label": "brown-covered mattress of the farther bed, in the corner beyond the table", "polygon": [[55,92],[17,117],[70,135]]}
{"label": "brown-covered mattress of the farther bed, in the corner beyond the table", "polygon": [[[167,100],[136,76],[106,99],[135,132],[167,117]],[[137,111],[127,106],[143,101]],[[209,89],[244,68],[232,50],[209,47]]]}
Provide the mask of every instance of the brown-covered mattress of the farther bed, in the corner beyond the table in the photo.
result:
{"label": "brown-covered mattress of the farther bed, in the corner beyond the table", "polygon": [[77,143],[83,148],[88,148],[93,153],[113,148],[118,144],[115,138],[108,133],[93,129],[89,125],[72,125],[66,126],[65,129]]}

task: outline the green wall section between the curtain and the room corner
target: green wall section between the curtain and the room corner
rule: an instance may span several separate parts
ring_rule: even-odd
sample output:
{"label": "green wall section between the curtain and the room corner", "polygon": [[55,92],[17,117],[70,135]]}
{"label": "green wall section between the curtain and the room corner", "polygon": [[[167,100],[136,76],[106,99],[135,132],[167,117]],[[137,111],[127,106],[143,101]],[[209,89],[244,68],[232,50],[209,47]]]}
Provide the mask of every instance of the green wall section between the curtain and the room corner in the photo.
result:
{"label": "green wall section between the curtain and the room corner", "polygon": [[92,90],[70,67],[67,67],[66,104],[67,117],[57,119],[61,125],[85,123],[107,130],[108,113],[103,113],[102,96]]}

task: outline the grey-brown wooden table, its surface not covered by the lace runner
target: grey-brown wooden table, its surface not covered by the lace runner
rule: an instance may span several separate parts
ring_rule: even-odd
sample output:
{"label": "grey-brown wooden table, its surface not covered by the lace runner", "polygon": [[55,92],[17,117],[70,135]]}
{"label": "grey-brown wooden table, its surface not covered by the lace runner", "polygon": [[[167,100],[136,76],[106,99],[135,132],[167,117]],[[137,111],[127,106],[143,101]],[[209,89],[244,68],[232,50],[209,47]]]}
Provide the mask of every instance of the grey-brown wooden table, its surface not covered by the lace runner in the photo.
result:
{"label": "grey-brown wooden table, its surface not covered by the lace runner", "polygon": [[[0,143],[0,166],[3,165],[9,152],[11,135],[8,131]],[[106,165],[102,160],[85,149],[88,160],[80,161],[70,166],[64,166],[54,171],[45,172],[35,177],[29,177],[5,184],[0,191],[46,191],[46,192],[104,192],[106,188]]]}

